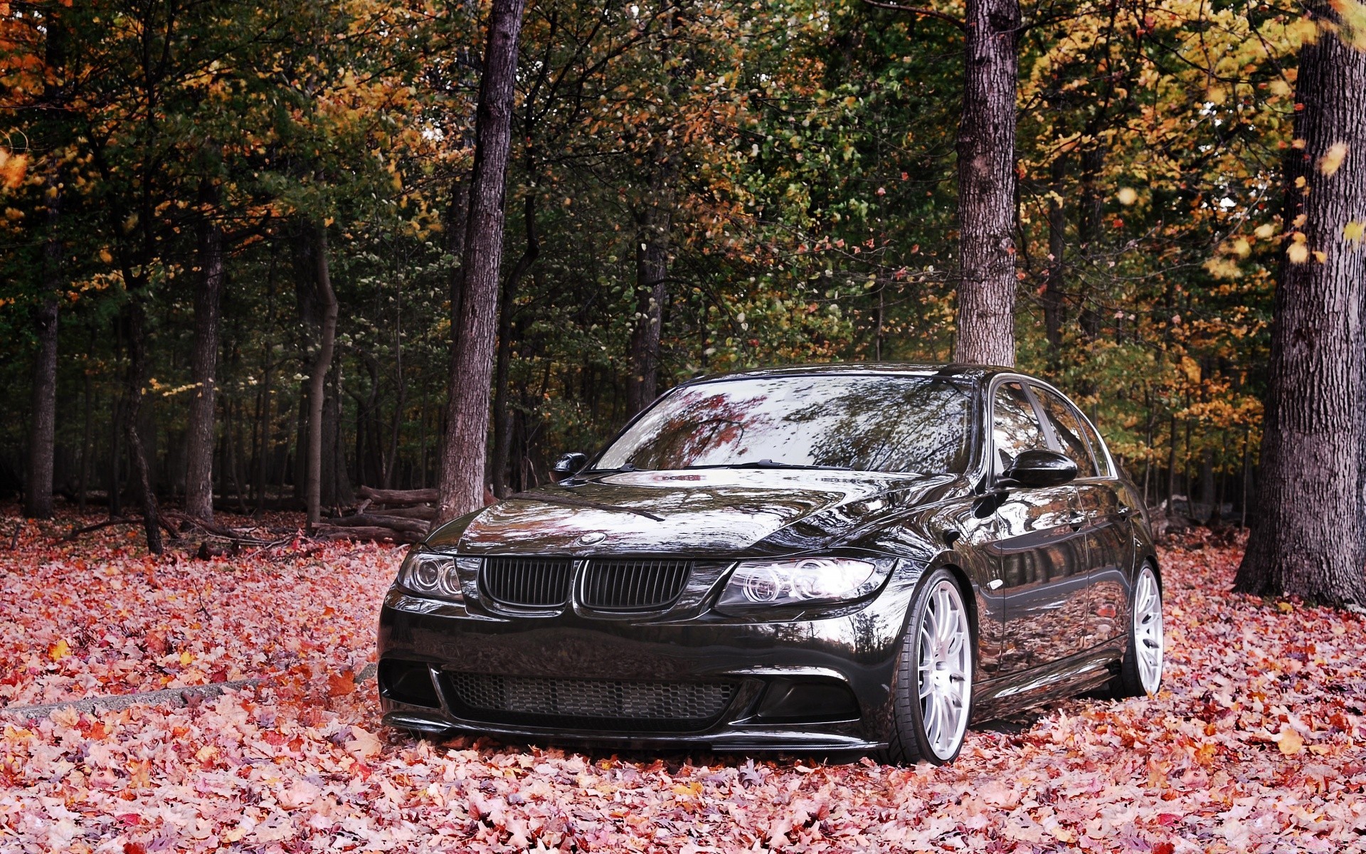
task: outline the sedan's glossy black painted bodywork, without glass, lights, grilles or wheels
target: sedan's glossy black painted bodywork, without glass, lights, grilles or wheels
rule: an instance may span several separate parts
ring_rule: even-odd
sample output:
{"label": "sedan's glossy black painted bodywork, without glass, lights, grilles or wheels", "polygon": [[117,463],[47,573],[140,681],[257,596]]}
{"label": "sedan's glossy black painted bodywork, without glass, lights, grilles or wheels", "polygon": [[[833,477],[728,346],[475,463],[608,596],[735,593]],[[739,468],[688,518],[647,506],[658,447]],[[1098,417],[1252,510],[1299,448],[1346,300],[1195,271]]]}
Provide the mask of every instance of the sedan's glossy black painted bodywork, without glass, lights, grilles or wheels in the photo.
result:
{"label": "sedan's glossy black painted bodywork, without glass, lights, grilles or wheels", "polygon": [[[460,720],[447,702],[430,709],[389,697],[382,698],[385,720],[433,732],[471,730],[616,747],[876,749],[885,743],[891,726],[891,686],[915,585],[940,566],[949,567],[971,593],[978,631],[975,720],[1104,683],[1127,644],[1128,592],[1138,567],[1143,560],[1156,566],[1152,537],[1142,507],[1134,503],[1137,492],[1121,478],[993,489],[1000,471],[993,470],[989,447],[992,389],[1007,378],[1037,380],[992,369],[888,365],[742,376],[929,372],[955,376],[977,389],[973,435],[986,441],[974,440],[962,474],[795,469],[587,474],[541,489],[645,510],[663,521],[526,497],[462,516],[425,542],[425,548],[470,557],[695,557],[701,568],[679,601],[663,612],[593,614],[574,604],[540,615],[508,612],[481,601],[469,562],[462,567],[464,603],[423,598],[398,586],[385,598],[381,660],[426,663],[434,679],[451,667],[525,676],[735,678],[738,695],[714,727],[668,734],[544,730]],[[1031,519],[1037,525],[1027,529]],[[579,538],[587,532],[605,538],[583,544]],[[727,616],[709,608],[734,560],[800,555],[897,562],[878,592],[839,608],[765,616]],[[861,715],[766,721],[758,715],[764,690],[784,678],[839,680],[854,693]]]}

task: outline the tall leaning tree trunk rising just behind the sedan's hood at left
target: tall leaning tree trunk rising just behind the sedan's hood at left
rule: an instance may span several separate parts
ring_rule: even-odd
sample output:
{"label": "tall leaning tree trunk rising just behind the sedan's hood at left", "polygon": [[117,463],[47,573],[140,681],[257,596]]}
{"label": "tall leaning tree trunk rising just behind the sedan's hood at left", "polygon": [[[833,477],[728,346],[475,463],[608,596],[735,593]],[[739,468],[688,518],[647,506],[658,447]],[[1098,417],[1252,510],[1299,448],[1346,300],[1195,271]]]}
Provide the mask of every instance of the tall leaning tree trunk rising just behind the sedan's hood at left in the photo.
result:
{"label": "tall leaning tree trunk rising just behind the sedan's hood at left", "polygon": [[489,392],[503,261],[503,199],[512,137],[518,37],[526,0],[493,0],[474,130],[470,215],[460,264],[460,305],[452,327],[447,433],[441,448],[438,519],[484,504]]}

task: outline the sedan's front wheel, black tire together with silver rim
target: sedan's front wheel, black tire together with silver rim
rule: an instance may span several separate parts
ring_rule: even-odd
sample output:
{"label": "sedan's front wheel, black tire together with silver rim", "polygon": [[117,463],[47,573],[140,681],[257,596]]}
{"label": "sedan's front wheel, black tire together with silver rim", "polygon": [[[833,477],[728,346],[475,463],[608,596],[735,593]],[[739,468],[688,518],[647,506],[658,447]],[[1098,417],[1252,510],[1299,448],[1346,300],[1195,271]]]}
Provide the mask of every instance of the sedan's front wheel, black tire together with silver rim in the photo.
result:
{"label": "sedan's front wheel, black tire together with silver rim", "polygon": [[902,641],[887,758],[944,765],[958,758],[973,712],[973,624],[952,573],[921,583]]}

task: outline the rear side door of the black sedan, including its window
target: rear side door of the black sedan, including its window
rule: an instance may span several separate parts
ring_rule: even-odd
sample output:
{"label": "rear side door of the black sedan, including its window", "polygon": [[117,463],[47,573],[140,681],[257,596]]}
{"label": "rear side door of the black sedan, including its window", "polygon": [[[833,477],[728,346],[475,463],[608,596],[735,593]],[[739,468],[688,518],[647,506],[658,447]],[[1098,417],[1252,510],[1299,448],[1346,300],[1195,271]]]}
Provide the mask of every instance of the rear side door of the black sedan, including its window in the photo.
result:
{"label": "rear side door of the black sedan, including its window", "polygon": [[[1128,508],[1104,448],[1087,436],[1090,426],[1061,394],[1044,385],[1033,391],[1044,409],[1059,450],[1076,463],[1076,496],[1086,515],[1087,604],[1083,615],[1086,648],[1117,637],[1128,626],[1127,578],[1132,563]],[[1097,440],[1098,441],[1098,440]]]}

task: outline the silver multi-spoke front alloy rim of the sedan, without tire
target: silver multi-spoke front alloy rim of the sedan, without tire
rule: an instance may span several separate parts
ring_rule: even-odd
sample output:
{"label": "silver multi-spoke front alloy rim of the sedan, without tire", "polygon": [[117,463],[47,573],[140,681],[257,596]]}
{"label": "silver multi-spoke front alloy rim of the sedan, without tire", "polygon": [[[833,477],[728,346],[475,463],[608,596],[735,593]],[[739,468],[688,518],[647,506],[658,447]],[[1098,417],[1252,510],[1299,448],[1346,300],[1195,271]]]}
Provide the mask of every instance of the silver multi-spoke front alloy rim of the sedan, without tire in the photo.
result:
{"label": "silver multi-spoke front alloy rim of the sedan, without tire", "polygon": [[921,726],[934,756],[947,760],[963,741],[973,694],[967,608],[952,581],[941,579],[930,590],[917,634]]}

